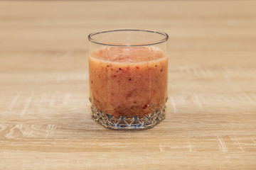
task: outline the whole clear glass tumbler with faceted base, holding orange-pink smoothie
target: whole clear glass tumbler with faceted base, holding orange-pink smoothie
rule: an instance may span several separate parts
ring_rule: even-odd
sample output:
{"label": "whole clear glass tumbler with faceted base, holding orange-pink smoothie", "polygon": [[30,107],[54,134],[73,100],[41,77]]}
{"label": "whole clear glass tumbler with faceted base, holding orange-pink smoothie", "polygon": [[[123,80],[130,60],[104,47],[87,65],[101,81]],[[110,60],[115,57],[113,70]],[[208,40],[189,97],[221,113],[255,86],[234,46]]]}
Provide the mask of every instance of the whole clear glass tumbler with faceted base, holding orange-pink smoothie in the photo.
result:
{"label": "whole clear glass tumbler with faceted base, holding orange-pink smoothie", "polygon": [[168,88],[166,33],[102,30],[88,36],[92,119],[105,128],[152,128],[164,119]]}

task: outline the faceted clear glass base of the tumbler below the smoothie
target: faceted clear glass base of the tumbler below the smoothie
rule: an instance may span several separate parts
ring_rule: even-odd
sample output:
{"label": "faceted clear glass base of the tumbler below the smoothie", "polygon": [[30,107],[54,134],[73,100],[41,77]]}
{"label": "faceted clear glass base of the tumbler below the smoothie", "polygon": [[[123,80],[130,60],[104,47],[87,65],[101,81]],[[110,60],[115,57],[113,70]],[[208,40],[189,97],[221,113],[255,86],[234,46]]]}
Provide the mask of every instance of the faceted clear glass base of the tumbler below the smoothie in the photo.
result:
{"label": "faceted clear glass base of the tumbler below the smoothie", "polygon": [[166,106],[162,106],[154,113],[149,113],[144,116],[144,118],[139,118],[137,115],[133,115],[132,118],[126,118],[126,116],[119,116],[119,118],[114,118],[112,115],[103,113],[99,109],[92,105],[92,120],[95,120],[100,125],[105,128],[113,130],[142,130],[154,127],[154,125],[161,122],[165,118]]}

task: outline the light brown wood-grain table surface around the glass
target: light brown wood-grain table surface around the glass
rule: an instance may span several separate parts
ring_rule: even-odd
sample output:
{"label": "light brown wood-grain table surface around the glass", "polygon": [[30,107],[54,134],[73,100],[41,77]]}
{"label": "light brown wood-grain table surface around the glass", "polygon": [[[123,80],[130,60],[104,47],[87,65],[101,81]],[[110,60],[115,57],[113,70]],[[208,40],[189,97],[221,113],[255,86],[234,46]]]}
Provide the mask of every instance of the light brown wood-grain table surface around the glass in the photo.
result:
{"label": "light brown wood-grain table surface around the glass", "polygon": [[[1,1],[0,169],[256,169],[256,1]],[[169,34],[166,119],[91,119],[87,35]]]}

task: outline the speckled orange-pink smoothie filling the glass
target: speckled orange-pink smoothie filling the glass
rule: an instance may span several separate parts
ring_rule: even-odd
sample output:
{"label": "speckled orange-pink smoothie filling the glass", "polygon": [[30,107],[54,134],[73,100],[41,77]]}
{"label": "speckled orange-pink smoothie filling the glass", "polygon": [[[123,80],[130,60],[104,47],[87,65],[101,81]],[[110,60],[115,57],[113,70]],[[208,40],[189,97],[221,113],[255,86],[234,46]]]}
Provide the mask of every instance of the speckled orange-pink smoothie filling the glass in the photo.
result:
{"label": "speckled orange-pink smoothie filling the glass", "polygon": [[168,58],[158,48],[104,47],[89,69],[92,105],[114,118],[143,118],[166,102]]}

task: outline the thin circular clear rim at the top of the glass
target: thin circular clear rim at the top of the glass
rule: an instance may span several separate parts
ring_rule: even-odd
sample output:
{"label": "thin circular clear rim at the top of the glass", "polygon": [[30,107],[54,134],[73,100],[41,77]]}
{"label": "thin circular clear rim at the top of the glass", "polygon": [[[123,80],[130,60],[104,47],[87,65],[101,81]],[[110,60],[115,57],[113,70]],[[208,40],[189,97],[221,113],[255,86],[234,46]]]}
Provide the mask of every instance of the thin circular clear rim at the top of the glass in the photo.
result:
{"label": "thin circular clear rim at the top of the glass", "polygon": [[[114,43],[114,42],[101,42],[99,40],[95,40],[92,37],[94,35],[98,35],[101,33],[110,33],[110,32],[116,32],[116,31],[142,31],[142,32],[147,32],[147,33],[157,33],[160,35],[164,35],[164,38],[161,40],[153,41],[153,42],[144,42],[144,43],[137,43],[137,44],[129,44],[129,43]],[[137,47],[137,46],[147,46],[147,45],[156,45],[160,44],[163,42],[166,42],[169,39],[169,35],[167,33],[164,33],[159,30],[149,30],[149,29],[135,29],[135,28],[128,28],[128,29],[110,29],[110,30],[98,30],[93,33],[90,33],[88,35],[88,40],[90,42],[93,42],[95,44],[99,45],[109,45],[109,46],[117,46],[117,47]]]}

